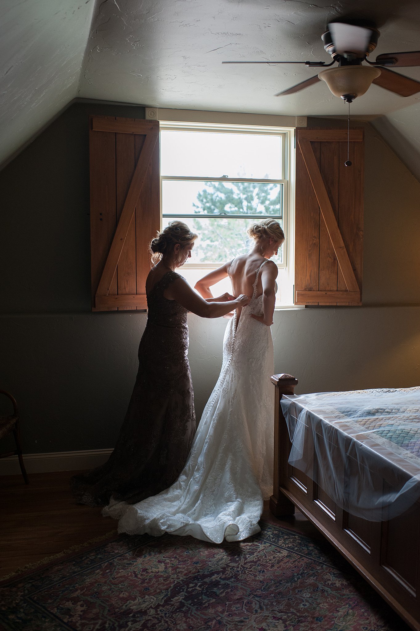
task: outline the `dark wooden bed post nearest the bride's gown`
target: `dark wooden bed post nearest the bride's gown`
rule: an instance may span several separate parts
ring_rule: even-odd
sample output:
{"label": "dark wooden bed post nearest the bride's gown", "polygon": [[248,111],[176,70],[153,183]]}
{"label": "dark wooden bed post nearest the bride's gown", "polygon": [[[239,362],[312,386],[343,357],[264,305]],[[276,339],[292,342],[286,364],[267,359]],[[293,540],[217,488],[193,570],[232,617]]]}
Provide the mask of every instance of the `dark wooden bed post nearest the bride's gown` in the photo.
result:
{"label": "dark wooden bed post nearest the bride's gown", "polygon": [[[281,517],[293,515],[295,513],[295,504],[283,495],[280,490],[282,469],[284,466],[287,466],[289,447],[289,436],[286,421],[281,411],[280,400],[283,394],[295,394],[298,380],[293,375],[283,373],[281,375],[272,375],[271,381],[276,386],[276,398],[274,403],[274,490],[270,498],[270,510],[274,516]],[[285,461],[284,458],[286,458]]]}

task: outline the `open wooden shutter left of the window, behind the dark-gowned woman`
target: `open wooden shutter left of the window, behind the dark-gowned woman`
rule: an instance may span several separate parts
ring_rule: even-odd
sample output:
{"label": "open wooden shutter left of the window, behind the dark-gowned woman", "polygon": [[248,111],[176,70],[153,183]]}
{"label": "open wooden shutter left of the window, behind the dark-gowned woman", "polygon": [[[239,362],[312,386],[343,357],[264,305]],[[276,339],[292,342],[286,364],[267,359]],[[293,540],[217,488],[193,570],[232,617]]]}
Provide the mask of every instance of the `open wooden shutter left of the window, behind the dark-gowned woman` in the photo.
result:
{"label": "open wooden shutter left of the window, behind the dark-gowned woman", "polygon": [[90,117],[92,310],[146,309],[160,229],[159,123]]}

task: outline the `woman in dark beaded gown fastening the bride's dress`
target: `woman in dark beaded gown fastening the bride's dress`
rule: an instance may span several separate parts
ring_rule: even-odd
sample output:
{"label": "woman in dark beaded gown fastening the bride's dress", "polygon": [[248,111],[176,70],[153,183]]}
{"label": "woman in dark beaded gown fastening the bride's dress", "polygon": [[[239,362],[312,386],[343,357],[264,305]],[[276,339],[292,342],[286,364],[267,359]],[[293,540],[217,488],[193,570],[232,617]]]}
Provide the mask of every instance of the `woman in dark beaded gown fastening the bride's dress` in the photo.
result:
{"label": "woman in dark beaded gown fastening the bride's dress", "polygon": [[184,468],[195,433],[188,363],[187,312],[219,317],[249,302],[225,294],[204,300],[175,272],[191,256],[197,235],[172,221],[150,245],[146,280],[148,321],[139,345],[139,371],[119,439],[107,463],[73,476],[79,502],[134,504],[170,487]]}

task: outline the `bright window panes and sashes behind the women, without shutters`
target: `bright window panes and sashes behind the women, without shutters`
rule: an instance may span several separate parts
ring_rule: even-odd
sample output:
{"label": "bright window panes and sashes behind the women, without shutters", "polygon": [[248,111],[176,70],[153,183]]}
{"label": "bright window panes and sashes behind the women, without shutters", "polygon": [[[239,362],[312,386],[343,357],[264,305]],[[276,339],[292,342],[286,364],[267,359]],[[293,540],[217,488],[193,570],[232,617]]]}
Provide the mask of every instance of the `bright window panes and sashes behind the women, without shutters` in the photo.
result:
{"label": "bright window panes and sashes behind the women, without shutters", "polygon": [[[199,235],[180,270],[192,286],[206,269],[249,251],[247,228],[255,221],[275,218],[287,239],[287,138],[272,127],[161,122],[163,226],[181,220]],[[272,259],[280,270],[286,251]],[[214,286],[214,295],[225,291],[228,280]]]}

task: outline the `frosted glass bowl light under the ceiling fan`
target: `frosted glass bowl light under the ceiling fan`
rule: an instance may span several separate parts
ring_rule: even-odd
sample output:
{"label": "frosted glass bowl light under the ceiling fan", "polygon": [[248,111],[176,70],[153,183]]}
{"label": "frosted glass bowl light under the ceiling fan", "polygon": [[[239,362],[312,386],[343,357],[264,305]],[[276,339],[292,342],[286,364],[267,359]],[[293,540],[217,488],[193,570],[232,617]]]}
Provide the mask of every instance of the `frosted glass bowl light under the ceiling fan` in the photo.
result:
{"label": "frosted glass bowl light under the ceiling fan", "polygon": [[318,78],[325,81],[335,97],[353,95],[356,98],[365,94],[380,73],[379,68],[372,66],[339,66],[322,70]]}

